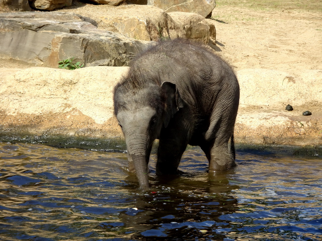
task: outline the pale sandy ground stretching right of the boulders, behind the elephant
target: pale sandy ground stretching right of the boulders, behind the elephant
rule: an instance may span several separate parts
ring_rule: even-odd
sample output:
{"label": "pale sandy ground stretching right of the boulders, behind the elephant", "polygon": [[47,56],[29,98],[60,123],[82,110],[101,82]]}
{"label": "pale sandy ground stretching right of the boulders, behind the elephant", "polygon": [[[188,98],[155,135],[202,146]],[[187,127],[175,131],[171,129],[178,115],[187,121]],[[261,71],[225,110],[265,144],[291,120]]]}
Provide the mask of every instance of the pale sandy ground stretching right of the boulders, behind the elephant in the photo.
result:
{"label": "pale sandy ground stretching right of the boulders, behind the elephant", "polygon": [[219,5],[213,18],[217,50],[237,69],[322,69],[321,12]]}

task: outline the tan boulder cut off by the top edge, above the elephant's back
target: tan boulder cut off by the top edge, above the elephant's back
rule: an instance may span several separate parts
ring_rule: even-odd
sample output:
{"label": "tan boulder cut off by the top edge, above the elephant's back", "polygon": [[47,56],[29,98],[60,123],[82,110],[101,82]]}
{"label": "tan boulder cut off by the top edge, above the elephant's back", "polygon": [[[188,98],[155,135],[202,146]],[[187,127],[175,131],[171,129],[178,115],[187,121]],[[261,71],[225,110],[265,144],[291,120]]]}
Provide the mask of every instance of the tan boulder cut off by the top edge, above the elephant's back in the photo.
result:
{"label": "tan boulder cut off by the top edge, above the elephant's back", "polygon": [[216,6],[215,0],[147,0],[147,5],[156,6],[169,12],[198,13],[210,15]]}

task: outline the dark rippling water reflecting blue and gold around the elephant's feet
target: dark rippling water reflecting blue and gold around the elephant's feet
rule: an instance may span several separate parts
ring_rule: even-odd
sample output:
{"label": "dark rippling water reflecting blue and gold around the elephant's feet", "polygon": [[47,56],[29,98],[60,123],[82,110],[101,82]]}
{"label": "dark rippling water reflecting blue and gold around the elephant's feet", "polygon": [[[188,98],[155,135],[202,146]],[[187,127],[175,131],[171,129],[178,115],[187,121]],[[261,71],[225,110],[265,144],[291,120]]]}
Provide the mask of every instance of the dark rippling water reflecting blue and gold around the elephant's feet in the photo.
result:
{"label": "dark rippling water reflecting blue and gold around the elephant's feet", "polygon": [[[0,240],[322,240],[322,159],[237,153],[139,192],[124,153],[0,142]],[[155,159],[155,156],[152,156]]]}

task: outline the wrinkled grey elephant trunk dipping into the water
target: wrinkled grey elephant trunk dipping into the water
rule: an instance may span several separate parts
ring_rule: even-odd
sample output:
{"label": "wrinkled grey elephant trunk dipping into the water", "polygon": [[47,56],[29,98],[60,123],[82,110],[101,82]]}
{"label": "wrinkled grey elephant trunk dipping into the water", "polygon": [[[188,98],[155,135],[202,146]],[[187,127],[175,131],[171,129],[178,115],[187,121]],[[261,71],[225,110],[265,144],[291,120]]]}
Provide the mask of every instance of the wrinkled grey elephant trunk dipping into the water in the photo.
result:
{"label": "wrinkled grey elephant trunk dipping into the water", "polygon": [[149,188],[148,160],[151,152],[148,138],[143,134],[132,134],[127,136],[128,157],[132,159],[137,179],[142,189]]}

